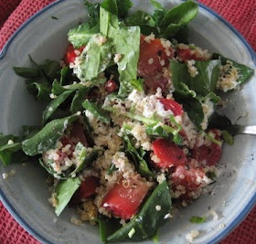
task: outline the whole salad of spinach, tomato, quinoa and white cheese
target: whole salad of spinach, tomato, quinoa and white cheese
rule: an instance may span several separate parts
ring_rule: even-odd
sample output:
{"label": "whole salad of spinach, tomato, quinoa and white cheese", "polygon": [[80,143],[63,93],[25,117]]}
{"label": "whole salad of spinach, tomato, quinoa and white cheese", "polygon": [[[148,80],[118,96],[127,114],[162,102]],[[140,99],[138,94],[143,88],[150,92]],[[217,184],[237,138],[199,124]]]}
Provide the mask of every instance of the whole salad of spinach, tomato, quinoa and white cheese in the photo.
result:
{"label": "whole salad of spinach, tomato, quinoa and white cheese", "polygon": [[172,208],[216,180],[233,142],[221,93],[253,72],[187,42],[196,3],[150,2],[153,15],[128,15],[130,0],[84,1],[89,21],[69,30],[60,62],[14,67],[46,105],[41,125],[0,134],[2,163],[41,164],[56,215],[74,207],[71,222],[97,224],[103,242],[158,239]]}

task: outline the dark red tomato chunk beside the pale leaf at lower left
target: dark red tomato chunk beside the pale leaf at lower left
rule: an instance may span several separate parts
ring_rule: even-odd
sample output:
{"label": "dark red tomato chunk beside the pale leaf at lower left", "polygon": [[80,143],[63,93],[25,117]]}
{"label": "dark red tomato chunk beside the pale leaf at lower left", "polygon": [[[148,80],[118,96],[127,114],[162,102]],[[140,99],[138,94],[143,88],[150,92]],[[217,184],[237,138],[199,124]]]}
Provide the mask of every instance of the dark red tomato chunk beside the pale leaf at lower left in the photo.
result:
{"label": "dark red tomato chunk beside the pale leaf at lower left", "polygon": [[82,198],[93,196],[96,188],[100,186],[99,179],[95,176],[88,176],[81,182],[79,189],[70,200],[70,205],[80,204]]}

